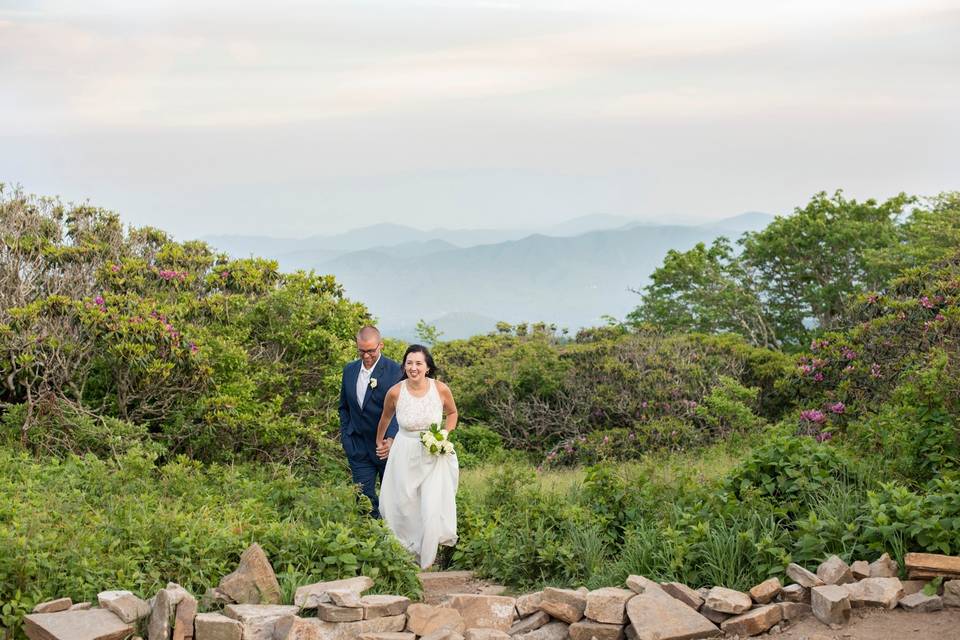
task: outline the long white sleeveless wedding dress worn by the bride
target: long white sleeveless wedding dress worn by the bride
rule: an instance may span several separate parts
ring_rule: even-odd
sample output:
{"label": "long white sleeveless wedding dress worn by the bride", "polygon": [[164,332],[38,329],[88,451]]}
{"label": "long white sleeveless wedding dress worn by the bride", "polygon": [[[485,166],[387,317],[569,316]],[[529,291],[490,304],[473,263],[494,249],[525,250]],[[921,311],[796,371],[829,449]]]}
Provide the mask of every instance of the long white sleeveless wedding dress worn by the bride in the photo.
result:
{"label": "long white sleeveless wedding dress worn by the bride", "polygon": [[400,383],[397,423],[380,486],[380,513],[387,526],[422,568],[433,564],[437,545],[457,542],[456,454],[431,455],[420,443],[420,432],[443,425],[443,402],[437,383],[427,378],[427,393],[416,397]]}

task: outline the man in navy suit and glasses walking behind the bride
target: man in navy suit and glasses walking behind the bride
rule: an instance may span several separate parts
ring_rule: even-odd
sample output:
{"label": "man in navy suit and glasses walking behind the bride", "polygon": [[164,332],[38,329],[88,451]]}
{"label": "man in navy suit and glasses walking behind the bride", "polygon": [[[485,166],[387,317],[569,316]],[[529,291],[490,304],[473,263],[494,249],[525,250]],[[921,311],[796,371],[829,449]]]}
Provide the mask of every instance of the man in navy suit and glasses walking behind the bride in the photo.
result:
{"label": "man in navy suit and glasses walking behind the bride", "polygon": [[[353,482],[360,485],[363,494],[370,498],[373,508],[370,515],[380,517],[380,501],[377,498],[377,476],[383,480],[387,466],[386,456],[377,455],[377,424],[383,413],[383,400],[387,391],[400,381],[400,365],[380,354],[383,338],[376,327],[366,326],[357,333],[359,360],[343,368],[343,383],[340,386],[340,444],[347,454]],[[397,419],[394,416],[387,428],[386,443],[393,444],[397,435]]]}

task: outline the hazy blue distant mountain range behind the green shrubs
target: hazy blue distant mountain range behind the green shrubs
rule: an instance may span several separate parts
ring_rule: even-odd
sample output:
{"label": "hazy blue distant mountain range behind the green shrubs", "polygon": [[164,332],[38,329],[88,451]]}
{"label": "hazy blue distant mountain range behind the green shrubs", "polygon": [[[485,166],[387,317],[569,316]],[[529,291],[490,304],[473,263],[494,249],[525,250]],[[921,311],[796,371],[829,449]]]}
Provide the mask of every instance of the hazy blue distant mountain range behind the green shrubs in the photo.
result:
{"label": "hazy blue distant mountain range behind the green shrubs", "polygon": [[210,236],[222,251],[278,260],[284,270],[332,273],[388,335],[411,339],[424,319],[446,339],[491,331],[499,320],[544,321],[573,331],[621,318],[669,249],[739,237],[773,216],[750,212],[699,226],[586,216],[548,234],[517,230],[422,231],[374,225],[306,239]]}

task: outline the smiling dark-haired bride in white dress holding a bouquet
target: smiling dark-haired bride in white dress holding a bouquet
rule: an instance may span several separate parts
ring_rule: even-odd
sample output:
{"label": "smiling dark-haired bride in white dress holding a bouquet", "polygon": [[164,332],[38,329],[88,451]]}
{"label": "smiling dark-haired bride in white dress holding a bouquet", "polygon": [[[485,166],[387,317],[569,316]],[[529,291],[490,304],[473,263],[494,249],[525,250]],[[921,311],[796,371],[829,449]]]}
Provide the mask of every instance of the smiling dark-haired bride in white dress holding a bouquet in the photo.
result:
{"label": "smiling dark-haired bride in white dress holding a bouquet", "polygon": [[[457,405],[450,388],[434,379],[437,368],[426,347],[411,345],[402,364],[403,377],[387,392],[377,426],[377,455],[387,459],[380,513],[400,543],[426,569],[437,557],[437,545],[457,542],[460,469],[456,454],[427,452],[420,443],[420,432],[432,424],[453,431]],[[394,413],[400,429],[396,440],[385,441]]]}

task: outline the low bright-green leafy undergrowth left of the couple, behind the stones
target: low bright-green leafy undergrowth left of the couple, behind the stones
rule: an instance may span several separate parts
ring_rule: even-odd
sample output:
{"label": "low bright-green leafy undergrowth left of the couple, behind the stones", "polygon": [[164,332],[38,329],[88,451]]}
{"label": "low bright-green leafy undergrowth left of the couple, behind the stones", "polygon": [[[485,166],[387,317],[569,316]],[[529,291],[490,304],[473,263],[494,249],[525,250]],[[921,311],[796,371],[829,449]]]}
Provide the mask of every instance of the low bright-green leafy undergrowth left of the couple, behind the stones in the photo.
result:
{"label": "low bright-green leafy undergrowth left of the couple, behind the stones", "polygon": [[[105,589],[149,598],[176,581],[201,594],[251,543],[281,581],[368,575],[414,594],[412,558],[349,485],[312,485],[280,466],[155,465],[131,451],[36,461],[0,448],[0,610],[11,627],[45,599]],[[9,608],[7,608],[9,605]],[[16,613],[9,613],[11,611]]]}

